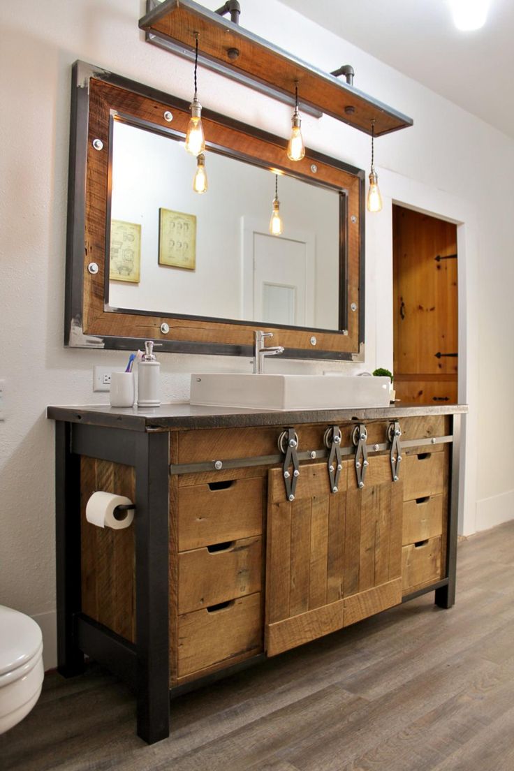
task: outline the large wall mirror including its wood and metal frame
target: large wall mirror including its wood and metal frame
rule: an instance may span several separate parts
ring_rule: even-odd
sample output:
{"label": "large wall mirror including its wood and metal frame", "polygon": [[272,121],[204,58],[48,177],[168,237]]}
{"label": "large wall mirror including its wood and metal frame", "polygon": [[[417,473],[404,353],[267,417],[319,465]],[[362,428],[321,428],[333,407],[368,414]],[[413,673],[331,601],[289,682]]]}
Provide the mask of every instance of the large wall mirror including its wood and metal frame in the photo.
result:
{"label": "large wall mirror including its wood and metal frame", "polygon": [[[189,104],[73,66],[66,345],[361,359],[364,173],[203,110],[208,189],[184,150]],[[275,190],[283,231],[269,232]]]}

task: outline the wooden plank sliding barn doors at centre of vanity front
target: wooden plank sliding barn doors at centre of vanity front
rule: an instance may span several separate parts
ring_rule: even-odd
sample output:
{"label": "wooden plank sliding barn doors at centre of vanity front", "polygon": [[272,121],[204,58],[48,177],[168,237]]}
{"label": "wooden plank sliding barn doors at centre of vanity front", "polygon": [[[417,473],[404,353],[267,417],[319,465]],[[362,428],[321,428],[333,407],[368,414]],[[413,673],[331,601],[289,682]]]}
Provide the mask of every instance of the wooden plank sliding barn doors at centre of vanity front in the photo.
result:
{"label": "wooden plank sliding barn doors at centre of vanity front", "polygon": [[401,601],[402,484],[388,456],[363,489],[343,463],[331,493],[326,463],[301,466],[294,501],[269,472],[264,647],[272,656]]}

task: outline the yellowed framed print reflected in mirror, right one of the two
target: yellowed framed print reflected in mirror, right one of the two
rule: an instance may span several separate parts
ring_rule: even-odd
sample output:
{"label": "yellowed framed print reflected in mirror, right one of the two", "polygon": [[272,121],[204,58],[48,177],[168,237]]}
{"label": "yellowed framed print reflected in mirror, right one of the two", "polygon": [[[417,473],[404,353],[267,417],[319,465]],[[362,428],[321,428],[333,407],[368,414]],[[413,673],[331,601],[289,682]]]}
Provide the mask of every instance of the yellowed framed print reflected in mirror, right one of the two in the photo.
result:
{"label": "yellowed framed print reflected in mirror, right one of the two", "polygon": [[197,217],[159,210],[159,264],[194,271],[197,265]]}

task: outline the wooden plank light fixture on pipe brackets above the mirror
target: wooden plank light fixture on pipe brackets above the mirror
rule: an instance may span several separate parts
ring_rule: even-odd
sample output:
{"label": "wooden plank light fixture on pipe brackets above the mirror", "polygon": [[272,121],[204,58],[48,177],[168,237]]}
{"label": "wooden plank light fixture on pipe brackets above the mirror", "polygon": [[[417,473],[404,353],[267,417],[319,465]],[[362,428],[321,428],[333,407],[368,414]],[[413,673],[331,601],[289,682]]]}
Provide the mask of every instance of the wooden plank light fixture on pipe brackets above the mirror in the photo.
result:
{"label": "wooden plank light fixture on pipe brackets above the mirror", "polygon": [[[412,126],[412,118],[354,88],[350,66],[334,71],[346,76],[346,82],[341,82],[333,73],[322,72],[241,28],[239,15],[237,0],[227,0],[217,12],[193,0],[147,0],[139,27],[148,42],[192,61],[198,40],[201,66],[298,106],[302,113],[317,117],[325,113],[367,134],[374,125],[375,136]],[[299,105],[296,89],[301,94]]]}

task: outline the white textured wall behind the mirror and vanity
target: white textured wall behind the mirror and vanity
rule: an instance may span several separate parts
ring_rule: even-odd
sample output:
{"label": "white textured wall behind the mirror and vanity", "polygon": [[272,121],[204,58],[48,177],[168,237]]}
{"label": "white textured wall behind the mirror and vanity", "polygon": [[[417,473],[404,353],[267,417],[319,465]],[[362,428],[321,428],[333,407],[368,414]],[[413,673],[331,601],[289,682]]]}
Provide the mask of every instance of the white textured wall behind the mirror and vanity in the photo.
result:
{"label": "white textured wall behind the mirror and vanity", "polygon": [[[220,2],[205,5],[216,8]],[[84,59],[189,99],[190,64],[144,42],[137,27],[143,10],[143,2],[126,0],[0,5],[0,379],[6,381],[5,422],[0,423],[0,602],[42,623],[47,666],[55,662],[55,554],[53,426],[45,407],[105,402],[105,395],[92,393],[92,366],[126,359],[122,353],[62,347],[70,67]],[[464,223],[459,278],[465,278],[461,309],[467,316],[460,333],[467,355],[459,363],[465,371],[462,398],[470,406],[471,473],[462,527],[469,533],[512,517],[512,460],[491,445],[499,434],[502,447],[501,437],[514,426],[514,142],[277,0],[247,2],[242,16],[248,29],[320,69],[334,69],[342,59],[351,62],[359,89],[414,117],[413,128],[376,143],[386,205],[366,224],[366,363],[392,362],[391,200]],[[287,136],[291,109],[286,106],[203,70],[199,94],[206,107]],[[364,134],[327,116],[319,121],[305,116],[303,128],[307,146],[368,167]],[[343,368],[332,369],[338,366]],[[247,360],[166,355],[163,391],[180,401],[188,397],[191,371],[249,368]],[[277,358],[270,369],[319,371],[327,365]]]}

